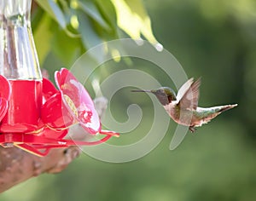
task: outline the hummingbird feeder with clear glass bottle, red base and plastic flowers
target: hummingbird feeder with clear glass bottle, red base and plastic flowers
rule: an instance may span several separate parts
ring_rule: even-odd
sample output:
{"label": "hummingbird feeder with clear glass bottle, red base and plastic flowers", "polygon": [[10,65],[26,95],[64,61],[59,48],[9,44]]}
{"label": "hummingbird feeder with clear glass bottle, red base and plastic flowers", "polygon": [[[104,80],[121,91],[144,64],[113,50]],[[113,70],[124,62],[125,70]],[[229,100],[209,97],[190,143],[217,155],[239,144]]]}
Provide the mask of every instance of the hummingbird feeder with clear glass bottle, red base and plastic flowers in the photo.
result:
{"label": "hummingbird feeder with clear glass bottle, red base and plastic flowers", "polygon": [[[50,149],[96,145],[119,134],[102,130],[90,95],[67,69],[42,78],[32,37],[31,0],[0,2],[0,145],[45,156]],[[79,123],[97,141],[64,139]]]}

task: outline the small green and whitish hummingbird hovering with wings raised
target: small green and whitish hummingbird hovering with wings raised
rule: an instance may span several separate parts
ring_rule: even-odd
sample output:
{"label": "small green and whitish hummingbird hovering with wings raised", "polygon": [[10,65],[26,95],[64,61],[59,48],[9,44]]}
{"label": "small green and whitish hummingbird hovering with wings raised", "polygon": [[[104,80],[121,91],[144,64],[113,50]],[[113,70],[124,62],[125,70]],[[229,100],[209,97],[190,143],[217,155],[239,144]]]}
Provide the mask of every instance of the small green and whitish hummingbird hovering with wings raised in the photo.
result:
{"label": "small green and whitish hummingbird hovering with wings raised", "polygon": [[237,104],[212,107],[197,106],[200,85],[201,78],[196,81],[194,81],[194,78],[190,78],[186,83],[183,83],[182,87],[177,91],[177,95],[174,90],[169,87],[131,91],[154,94],[176,123],[189,126],[191,133],[194,133],[196,130],[195,127],[200,127],[210,122],[212,118],[216,118],[220,113],[237,106]]}

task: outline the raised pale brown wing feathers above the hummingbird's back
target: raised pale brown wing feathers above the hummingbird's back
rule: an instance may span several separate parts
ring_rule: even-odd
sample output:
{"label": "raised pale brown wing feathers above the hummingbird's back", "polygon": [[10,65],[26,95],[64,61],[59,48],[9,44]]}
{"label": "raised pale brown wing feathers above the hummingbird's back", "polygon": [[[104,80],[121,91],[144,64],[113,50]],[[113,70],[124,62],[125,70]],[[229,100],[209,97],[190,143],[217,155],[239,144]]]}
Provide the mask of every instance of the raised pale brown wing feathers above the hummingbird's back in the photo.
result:
{"label": "raised pale brown wing feathers above the hummingbird's back", "polygon": [[190,78],[177,92],[177,101],[181,108],[196,109],[199,99],[201,78]]}

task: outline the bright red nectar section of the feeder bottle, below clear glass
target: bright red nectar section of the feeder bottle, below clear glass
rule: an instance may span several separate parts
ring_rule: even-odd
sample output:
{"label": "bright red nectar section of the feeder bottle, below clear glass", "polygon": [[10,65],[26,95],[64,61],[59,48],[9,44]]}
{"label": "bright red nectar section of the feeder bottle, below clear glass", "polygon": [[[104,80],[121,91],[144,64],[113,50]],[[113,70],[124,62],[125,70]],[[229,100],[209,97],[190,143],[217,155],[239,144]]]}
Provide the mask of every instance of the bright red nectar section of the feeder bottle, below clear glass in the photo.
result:
{"label": "bright red nectar section of the feeder bottle, below clear glass", "polygon": [[9,80],[9,110],[0,125],[2,133],[24,133],[38,128],[42,106],[42,81]]}

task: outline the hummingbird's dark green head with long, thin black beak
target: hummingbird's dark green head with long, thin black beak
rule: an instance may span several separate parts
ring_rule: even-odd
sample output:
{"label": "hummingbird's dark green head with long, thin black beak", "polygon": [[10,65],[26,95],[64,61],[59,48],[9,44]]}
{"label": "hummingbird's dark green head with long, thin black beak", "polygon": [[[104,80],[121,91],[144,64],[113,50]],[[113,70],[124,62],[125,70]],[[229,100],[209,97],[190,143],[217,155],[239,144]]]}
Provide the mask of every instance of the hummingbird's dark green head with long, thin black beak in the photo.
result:
{"label": "hummingbird's dark green head with long, thin black beak", "polygon": [[161,87],[160,89],[152,90],[132,90],[133,92],[149,92],[154,94],[163,106],[168,105],[172,100],[177,100],[175,92],[168,87]]}

